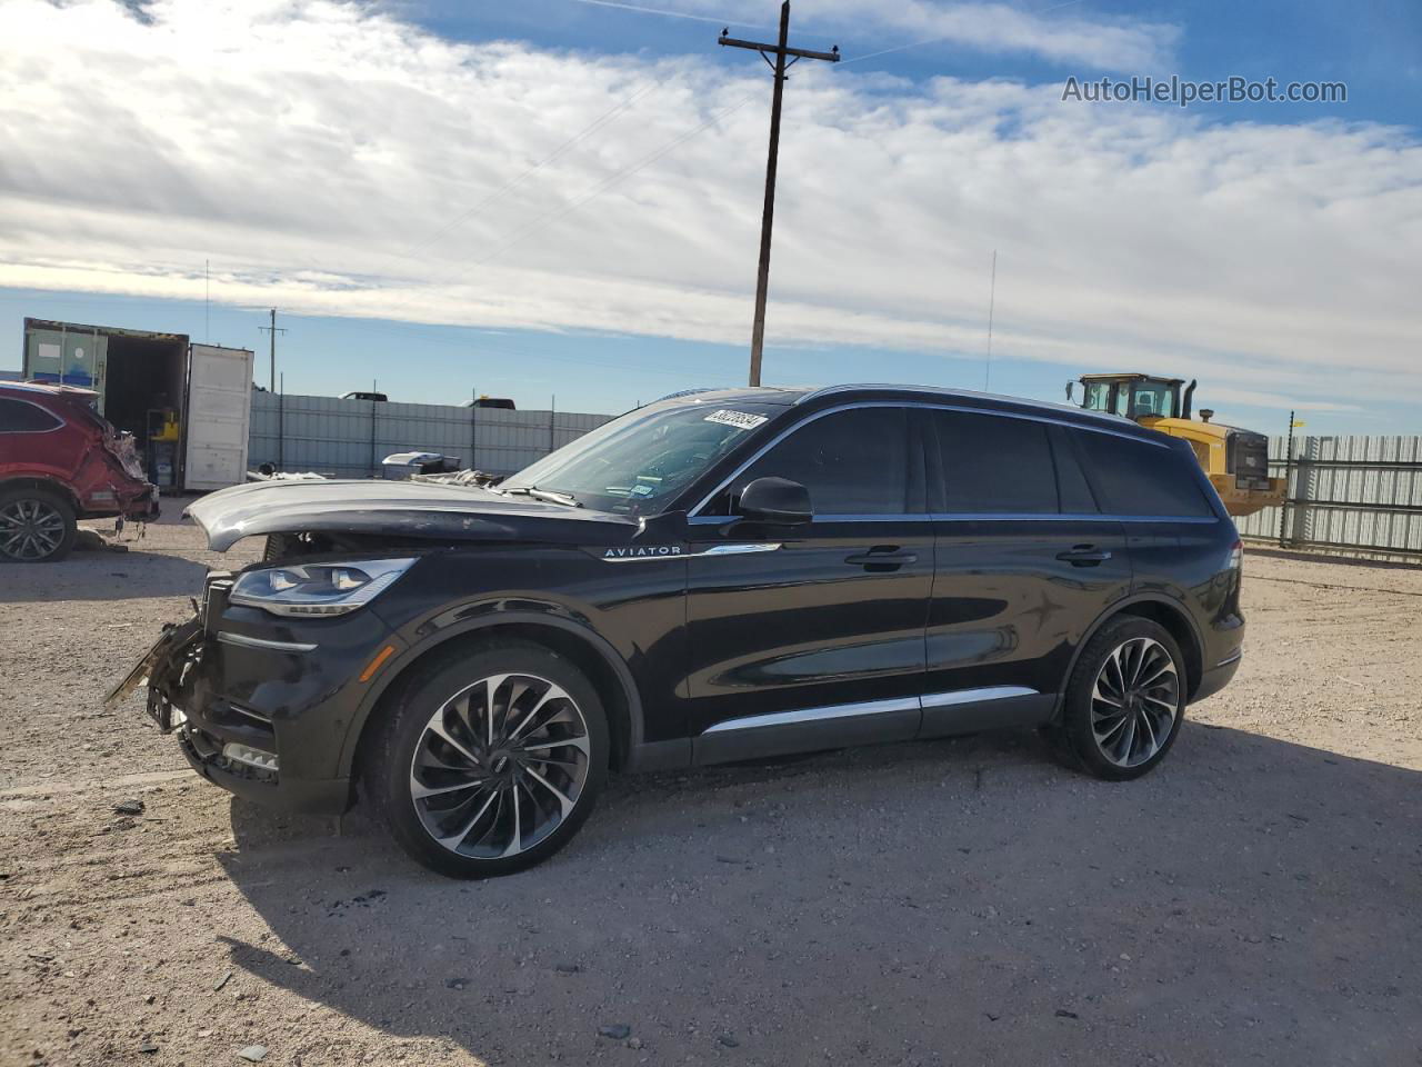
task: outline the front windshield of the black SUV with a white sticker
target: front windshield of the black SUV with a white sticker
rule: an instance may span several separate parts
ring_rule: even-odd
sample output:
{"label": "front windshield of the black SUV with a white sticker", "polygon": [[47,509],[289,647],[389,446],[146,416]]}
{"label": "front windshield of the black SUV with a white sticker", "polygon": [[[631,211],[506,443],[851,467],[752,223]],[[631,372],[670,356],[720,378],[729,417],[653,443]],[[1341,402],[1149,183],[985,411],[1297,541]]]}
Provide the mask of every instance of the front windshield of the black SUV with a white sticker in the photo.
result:
{"label": "front windshield of the black SUV with a white sticker", "polygon": [[597,511],[654,515],[785,408],[747,401],[664,401],[584,434],[503,481]]}

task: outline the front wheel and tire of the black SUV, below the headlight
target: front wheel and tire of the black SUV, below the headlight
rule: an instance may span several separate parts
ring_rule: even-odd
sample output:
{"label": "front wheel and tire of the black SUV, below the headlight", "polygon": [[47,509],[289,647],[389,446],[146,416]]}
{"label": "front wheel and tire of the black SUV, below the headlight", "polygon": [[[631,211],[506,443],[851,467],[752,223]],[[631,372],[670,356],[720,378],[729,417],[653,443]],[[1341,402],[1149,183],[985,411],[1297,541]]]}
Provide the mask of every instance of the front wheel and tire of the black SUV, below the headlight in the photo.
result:
{"label": "front wheel and tire of the black SUV, below the headlight", "polygon": [[577,832],[607,777],[597,690],[530,642],[445,657],[383,724],[370,792],[415,861],[491,878],[547,859]]}

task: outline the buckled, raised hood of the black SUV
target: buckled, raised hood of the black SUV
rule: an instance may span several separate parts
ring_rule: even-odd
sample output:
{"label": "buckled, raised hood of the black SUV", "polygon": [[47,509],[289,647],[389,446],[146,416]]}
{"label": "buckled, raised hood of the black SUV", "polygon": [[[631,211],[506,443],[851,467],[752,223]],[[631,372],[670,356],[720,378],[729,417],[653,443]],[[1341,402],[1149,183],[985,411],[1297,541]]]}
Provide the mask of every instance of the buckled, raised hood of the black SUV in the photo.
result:
{"label": "buckled, raised hood of the black SUV", "polygon": [[347,532],[431,541],[630,541],[641,524],[478,487],[395,481],[280,481],[233,485],[185,515],[226,552],[263,534]]}

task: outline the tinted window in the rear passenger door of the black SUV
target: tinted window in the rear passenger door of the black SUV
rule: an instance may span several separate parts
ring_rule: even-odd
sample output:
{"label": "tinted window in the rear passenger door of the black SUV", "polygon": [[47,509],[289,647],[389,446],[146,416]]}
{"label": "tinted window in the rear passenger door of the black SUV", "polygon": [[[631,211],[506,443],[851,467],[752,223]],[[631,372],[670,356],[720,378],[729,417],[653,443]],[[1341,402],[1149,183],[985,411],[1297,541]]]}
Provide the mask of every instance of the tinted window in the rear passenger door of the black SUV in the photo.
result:
{"label": "tinted window in the rear passenger door of the black SUV", "polygon": [[946,512],[1061,511],[1045,423],[967,411],[934,411],[933,421]]}

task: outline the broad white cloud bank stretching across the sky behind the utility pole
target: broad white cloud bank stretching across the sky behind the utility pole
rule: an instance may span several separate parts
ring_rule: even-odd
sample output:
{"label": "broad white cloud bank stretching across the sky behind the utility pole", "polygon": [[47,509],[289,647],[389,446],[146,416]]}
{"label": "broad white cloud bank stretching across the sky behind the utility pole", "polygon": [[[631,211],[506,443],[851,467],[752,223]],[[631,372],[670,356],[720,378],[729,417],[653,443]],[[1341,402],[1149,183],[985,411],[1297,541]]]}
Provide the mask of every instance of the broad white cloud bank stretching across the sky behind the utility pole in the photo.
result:
{"label": "broad white cloud bank stretching across the sky behind the utility pole", "polygon": [[[230,303],[744,341],[757,71],[458,44],[334,3],[146,10],[0,6],[0,285],[201,297],[210,258]],[[997,249],[1003,357],[1177,370],[1236,403],[1422,386],[1412,134],[1059,97],[798,75],[769,341],[981,351]]]}

